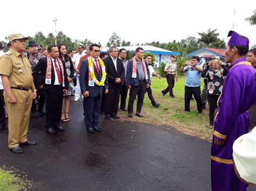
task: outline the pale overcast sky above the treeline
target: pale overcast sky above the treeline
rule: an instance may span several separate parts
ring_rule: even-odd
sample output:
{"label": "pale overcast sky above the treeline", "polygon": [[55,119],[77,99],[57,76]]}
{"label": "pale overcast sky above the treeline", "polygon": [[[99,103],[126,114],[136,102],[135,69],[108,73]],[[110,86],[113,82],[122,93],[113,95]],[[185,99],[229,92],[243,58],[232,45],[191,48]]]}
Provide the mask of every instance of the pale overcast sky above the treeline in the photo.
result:
{"label": "pale overcast sky above the treeline", "polygon": [[[199,38],[198,32],[209,27],[218,29],[220,38],[227,42],[233,29],[256,44],[256,26],[245,22],[253,14],[256,1],[1,1],[0,40],[11,33],[45,36],[63,31],[72,40],[85,38],[106,45],[111,34],[132,44],[160,41],[179,41],[188,36]],[[235,16],[234,16],[235,9]]]}

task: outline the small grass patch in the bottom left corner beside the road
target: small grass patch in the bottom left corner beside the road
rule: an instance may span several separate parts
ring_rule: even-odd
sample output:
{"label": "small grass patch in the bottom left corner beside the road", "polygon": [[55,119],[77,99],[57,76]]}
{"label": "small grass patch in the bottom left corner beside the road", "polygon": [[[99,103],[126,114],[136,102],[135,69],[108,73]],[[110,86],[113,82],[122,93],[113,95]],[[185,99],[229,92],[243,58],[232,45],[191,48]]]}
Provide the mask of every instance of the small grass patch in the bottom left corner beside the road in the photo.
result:
{"label": "small grass patch in the bottom left corner beside the road", "polygon": [[[22,176],[22,177],[21,177]],[[31,185],[21,173],[0,168],[0,190],[25,190]]]}

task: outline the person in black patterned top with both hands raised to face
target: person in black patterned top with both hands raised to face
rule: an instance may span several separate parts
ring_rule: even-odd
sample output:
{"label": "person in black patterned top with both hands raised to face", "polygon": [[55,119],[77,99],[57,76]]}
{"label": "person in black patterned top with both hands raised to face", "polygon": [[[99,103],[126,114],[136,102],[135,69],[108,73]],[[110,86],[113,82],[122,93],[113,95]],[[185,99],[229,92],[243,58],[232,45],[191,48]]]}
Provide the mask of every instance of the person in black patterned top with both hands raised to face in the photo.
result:
{"label": "person in black patterned top with both hands raised to face", "polygon": [[207,101],[209,104],[210,129],[213,128],[214,111],[216,109],[218,98],[223,89],[225,77],[228,68],[223,65],[219,59],[213,59],[206,63],[206,68],[201,73],[202,77],[207,79]]}

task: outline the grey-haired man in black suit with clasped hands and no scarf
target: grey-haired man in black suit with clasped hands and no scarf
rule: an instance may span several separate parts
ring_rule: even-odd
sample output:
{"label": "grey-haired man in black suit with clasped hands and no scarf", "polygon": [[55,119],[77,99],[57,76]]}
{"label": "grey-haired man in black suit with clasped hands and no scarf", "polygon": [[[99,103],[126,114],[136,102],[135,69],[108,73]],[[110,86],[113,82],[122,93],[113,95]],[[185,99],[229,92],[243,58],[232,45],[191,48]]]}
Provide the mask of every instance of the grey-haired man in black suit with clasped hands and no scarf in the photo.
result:
{"label": "grey-haired man in black suit with clasped hands and no scarf", "polygon": [[117,115],[120,90],[124,81],[125,69],[122,60],[117,58],[118,50],[112,46],[109,48],[110,56],[104,60],[106,66],[107,80],[109,82],[109,93],[105,95],[105,118],[119,119]]}

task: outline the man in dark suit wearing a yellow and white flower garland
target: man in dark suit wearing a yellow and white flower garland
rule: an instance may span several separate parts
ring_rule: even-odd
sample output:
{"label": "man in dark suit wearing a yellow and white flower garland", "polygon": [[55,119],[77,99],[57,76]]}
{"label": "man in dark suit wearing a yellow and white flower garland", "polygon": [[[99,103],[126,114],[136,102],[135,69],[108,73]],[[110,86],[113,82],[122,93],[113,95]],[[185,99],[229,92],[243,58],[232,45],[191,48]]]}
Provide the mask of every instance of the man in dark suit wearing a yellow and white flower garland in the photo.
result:
{"label": "man in dark suit wearing a yellow and white flower garland", "polygon": [[[84,116],[87,131],[102,131],[99,124],[100,103],[102,102],[103,86],[105,94],[109,92],[106,68],[99,59],[99,45],[90,45],[91,56],[83,60],[80,66],[80,88],[84,96]],[[93,78],[94,77],[94,78]]]}

